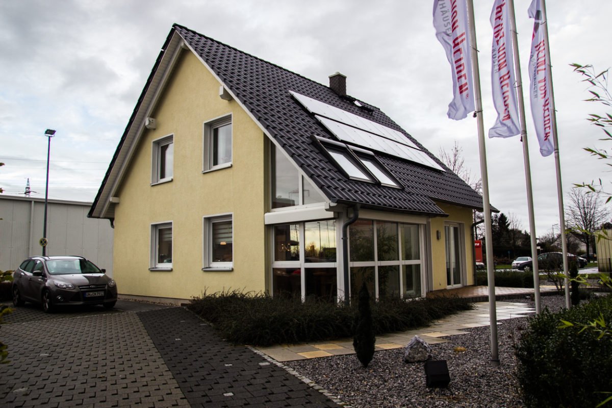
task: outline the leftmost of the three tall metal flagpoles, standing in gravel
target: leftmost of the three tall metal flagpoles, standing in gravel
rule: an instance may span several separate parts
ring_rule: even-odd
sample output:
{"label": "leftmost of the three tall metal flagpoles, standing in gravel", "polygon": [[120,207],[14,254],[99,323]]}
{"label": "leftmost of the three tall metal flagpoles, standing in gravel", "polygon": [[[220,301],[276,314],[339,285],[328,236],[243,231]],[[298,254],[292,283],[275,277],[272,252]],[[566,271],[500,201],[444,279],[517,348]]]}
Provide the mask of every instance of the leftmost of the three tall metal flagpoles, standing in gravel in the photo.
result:
{"label": "leftmost of the three tall metal flagpoles, standing in gravel", "polygon": [[480,152],[480,177],[482,177],[482,207],[485,217],[485,245],[487,253],[487,280],[489,294],[489,322],[491,326],[491,362],[499,365],[497,311],[495,308],[495,270],[493,264],[493,239],[491,237],[491,205],[489,202],[489,181],[487,174],[487,151],[485,147],[485,125],[482,118],[482,95],[480,94],[480,70],[476,46],[476,24],[474,24],[474,3],[468,0],[469,40],[472,47],[472,70],[474,72],[474,115],[478,123],[478,146]]}

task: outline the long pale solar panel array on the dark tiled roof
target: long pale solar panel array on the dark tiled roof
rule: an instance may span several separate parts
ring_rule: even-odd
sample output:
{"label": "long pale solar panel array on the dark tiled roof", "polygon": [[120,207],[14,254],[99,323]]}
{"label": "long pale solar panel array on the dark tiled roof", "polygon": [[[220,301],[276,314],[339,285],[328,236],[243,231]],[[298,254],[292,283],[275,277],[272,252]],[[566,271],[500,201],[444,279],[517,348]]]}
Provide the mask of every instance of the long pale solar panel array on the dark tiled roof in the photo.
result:
{"label": "long pale solar panel array on the dark tiled roof", "polygon": [[444,171],[403,133],[297,92],[289,92],[341,141]]}

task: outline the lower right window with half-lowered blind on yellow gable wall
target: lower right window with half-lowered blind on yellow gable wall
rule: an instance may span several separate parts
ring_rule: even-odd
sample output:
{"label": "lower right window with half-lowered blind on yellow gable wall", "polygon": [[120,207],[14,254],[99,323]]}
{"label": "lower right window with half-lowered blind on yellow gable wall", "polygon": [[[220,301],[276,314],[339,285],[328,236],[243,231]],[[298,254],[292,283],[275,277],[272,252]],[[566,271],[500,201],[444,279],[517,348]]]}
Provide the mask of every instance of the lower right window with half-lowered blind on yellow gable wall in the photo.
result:
{"label": "lower right window with half-lowered blind on yellow gable wall", "polygon": [[202,270],[233,270],[234,223],[232,214],[204,217],[204,267]]}

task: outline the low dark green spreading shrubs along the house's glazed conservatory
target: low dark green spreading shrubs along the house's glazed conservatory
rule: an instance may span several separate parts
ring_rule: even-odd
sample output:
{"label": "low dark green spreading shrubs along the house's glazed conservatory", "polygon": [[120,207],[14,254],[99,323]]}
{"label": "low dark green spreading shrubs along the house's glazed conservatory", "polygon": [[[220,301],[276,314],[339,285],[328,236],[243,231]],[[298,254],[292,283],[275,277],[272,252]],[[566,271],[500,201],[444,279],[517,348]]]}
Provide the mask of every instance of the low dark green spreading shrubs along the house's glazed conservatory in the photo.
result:
{"label": "low dark green spreading shrubs along the house's glazed conservatory", "polygon": [[[337,305],[300,297],[269,297],[240,291],[204,293],[188,308],[236,344],[270,346],[347,338],[354,335],[357,305]],[[371,302],[373,330],[381,333],[408,330],[472,306],[458,297]]]}

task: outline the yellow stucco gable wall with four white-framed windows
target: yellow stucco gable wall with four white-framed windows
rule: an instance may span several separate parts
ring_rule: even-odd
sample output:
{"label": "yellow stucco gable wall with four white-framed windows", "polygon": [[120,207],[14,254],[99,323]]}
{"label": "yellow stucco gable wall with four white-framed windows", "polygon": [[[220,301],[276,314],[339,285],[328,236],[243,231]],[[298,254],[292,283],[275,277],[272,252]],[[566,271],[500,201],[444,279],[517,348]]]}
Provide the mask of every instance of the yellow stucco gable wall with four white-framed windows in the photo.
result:
{"label": "yellow stucco gable wall with four white-framed windows", "polygon": [[[183,50],[119,185],[114,278],[127,295],[189,299],[223,289],[264,291],[265,143],[262,130],[220,83]],[[231,114],[231,166],[203,172],[204,123]],[[154,141],[173,135],[173,179],[152,185]],[[233,270],[203,271],[204,217],[233,215]],[[151,225],[171,221],[172,270],[152,271]]]}

